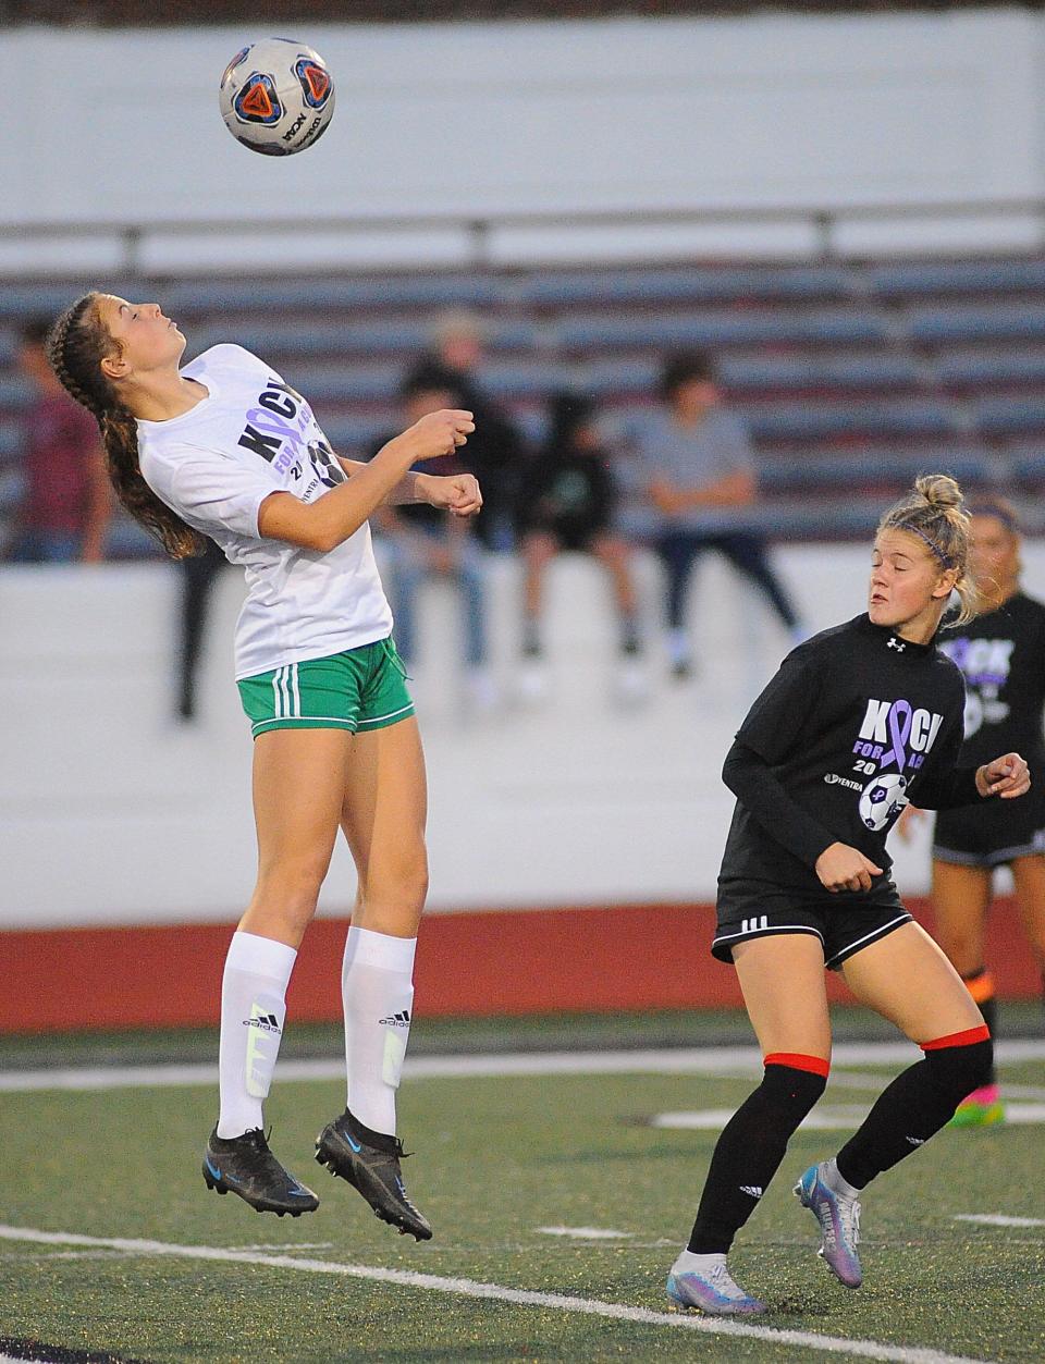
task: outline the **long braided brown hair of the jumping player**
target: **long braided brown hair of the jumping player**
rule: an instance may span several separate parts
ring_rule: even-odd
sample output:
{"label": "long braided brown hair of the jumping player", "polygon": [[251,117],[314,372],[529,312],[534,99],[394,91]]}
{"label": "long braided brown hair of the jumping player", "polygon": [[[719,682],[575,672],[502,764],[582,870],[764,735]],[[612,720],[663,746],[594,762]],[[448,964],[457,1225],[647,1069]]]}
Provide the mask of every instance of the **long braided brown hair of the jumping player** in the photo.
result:
{"label": "long braided brown hair of the jumping player", "polygon": [[172,559],[201,554],[203,537],[161,502],[138,465],[138,424],[105,378],[101,361],[119,342],[98,312],[98,295],[85,293],[52,326],[45,342],[48,361],[63,389],[85,406],[101,431],[105,465],[116,496]]}

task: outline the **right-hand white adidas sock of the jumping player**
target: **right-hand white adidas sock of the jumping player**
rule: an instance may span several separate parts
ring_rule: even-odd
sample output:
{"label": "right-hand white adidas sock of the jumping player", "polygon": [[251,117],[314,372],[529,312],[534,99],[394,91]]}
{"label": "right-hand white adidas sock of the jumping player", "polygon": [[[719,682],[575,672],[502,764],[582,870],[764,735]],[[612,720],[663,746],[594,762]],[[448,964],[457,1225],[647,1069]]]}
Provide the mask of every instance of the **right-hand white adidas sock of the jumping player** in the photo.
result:
{"label": "right-hand white adidas sock of the jumping player", "polygon": [[348,930],[341,968],[348,1106],[374,1132],[396,1135],[396,1090],[413,1005],[416,938]]}

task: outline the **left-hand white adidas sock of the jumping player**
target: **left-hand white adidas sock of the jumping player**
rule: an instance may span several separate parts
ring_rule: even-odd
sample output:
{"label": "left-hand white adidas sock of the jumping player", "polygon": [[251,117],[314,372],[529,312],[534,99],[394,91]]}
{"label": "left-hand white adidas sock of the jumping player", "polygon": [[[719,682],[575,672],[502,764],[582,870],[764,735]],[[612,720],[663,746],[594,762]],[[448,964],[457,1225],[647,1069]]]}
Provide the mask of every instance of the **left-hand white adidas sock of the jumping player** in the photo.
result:
{"label": "left-hand white adidas sock of the jumping player", "polygon": [[297,952],[285,943],[232,934],[221,979],[218,1136],[241,1136],[262,1125],[286,1016],[284,997]]}

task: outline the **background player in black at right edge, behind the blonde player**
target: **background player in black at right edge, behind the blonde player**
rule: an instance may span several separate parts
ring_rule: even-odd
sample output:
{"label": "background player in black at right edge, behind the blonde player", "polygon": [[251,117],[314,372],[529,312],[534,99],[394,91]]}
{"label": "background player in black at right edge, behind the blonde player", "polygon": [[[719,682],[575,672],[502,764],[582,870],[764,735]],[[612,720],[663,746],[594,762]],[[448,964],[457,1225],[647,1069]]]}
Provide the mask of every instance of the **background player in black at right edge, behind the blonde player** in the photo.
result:
{"label": "background player in black at right edge, behind the blonde player", "polygon": [[[962,762],[1018,749],[1031,771],[1045,764],[1045,606],[1019,585],[1019,524],[1003,499],[971,509],[970,569],[980,595],[975,621],[948,633],[940,648],[965,675]],[[904,812],[906,814],[907,812]],[[911,814],[914,810],[910,812]],[[903,829],[900,829],[903,832]],[[995,985],[984,964],[992,874],[1008,866],[1023,925],[1045,973],[1045,787],[1016,806],[945,810],[933,839],[933,907],[940,947],[966,982],[995,1034]],[[952,1127],[1004,1120],[997,1078],[967,1095]]]}

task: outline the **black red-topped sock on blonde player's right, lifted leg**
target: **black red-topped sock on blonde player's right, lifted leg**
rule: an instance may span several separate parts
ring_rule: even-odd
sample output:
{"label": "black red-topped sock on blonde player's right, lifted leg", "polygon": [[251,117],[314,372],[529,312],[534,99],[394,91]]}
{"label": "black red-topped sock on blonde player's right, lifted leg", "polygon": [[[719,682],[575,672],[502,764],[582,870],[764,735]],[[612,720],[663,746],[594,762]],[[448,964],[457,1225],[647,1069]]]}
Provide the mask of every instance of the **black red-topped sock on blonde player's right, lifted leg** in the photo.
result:
{"label": "black red-topped sock on blonde player's right, lifted leg", "polygon": [[898,1075],[838,1153],[838,1173],[858,1189],[917,1151],[966,1094],[989,1083],[993,1046],[985,1027],[924,1042],[925,1060]]}

